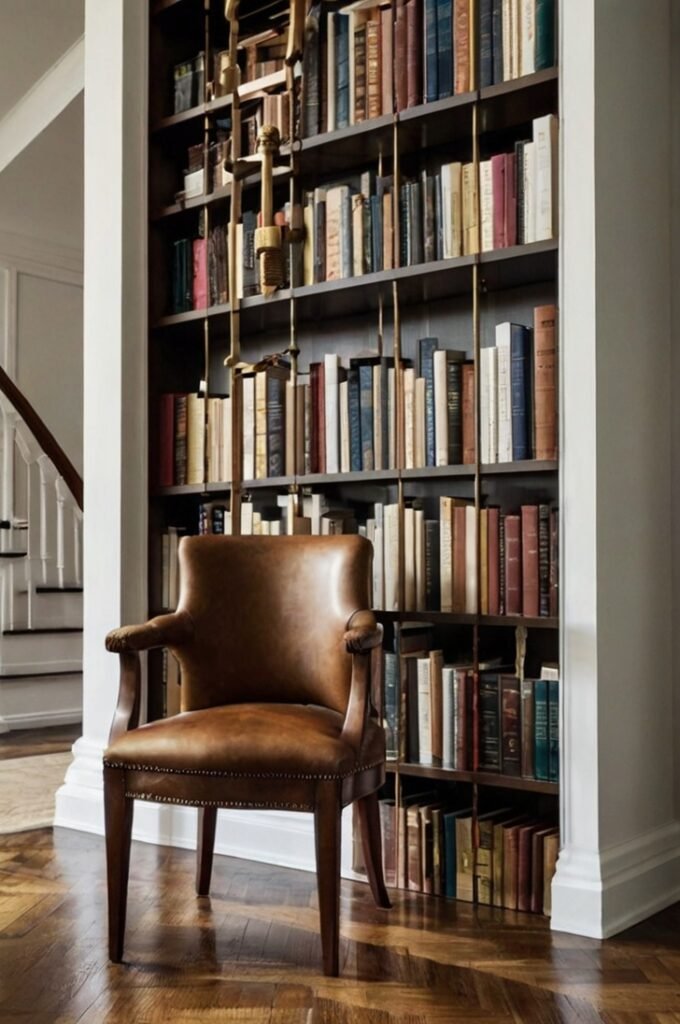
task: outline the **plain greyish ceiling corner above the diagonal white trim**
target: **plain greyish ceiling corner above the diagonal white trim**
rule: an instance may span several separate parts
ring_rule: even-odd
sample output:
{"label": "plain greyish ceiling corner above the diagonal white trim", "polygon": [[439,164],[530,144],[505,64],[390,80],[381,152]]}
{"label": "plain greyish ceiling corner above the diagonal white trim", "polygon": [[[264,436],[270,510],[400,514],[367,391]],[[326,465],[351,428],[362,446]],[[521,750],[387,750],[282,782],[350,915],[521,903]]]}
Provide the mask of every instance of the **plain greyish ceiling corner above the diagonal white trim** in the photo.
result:
{"label": "plain greyish ceiling corner above the diagonal white trim", "polygon": [[0,0],[0,118],[85,30],[85,0]]}

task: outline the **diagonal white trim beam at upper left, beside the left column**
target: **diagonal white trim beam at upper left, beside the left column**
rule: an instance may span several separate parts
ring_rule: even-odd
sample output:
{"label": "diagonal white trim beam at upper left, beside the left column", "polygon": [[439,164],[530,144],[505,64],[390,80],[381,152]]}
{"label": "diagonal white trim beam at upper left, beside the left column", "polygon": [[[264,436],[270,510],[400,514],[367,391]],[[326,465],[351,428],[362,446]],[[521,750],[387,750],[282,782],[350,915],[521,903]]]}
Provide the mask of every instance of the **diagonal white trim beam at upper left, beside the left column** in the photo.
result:
{"label": "diagonal white trim beam at upper left, beside the left column", "polygon": [[84,83],[81,36],[0,121],[0,172],[83,91]]}

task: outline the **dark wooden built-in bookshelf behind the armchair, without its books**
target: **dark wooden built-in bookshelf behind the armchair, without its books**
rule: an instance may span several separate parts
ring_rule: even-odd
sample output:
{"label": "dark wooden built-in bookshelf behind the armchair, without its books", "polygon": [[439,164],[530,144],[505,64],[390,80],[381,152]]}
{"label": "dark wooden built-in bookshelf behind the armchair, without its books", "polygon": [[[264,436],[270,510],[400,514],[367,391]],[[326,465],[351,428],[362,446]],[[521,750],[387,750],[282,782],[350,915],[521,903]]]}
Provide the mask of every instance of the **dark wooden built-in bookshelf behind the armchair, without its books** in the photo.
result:
{"label": "dark wooden built-in bookshelf behind the armchair, without its books", "polygon": [[[336,9],[337,5],[332,5]],[[267,24],[279,24],[288,9],[284,0],[267,7]],[[369,506],[390,501],[398,507],[398,607],[406,608],[403,518],[409,503],[437,507],[442,496],[461,496],[474,504],[476,522],[485,504],[516,511],[522,503],[555,505],[559,498],[559,463],[522,460],[405,468],[403,398],[396,406],[396,465],[393,468],[345,473],[288,473],[244,479],[242,462],[240,364],[255,365],[265,355],[288,350],[291,376],[297,382],[313,359],[339,351],[343,362],[366,347],[370,335],[381,355],[394,359],[397,381],[406,360],[415,361],[417,339],[431,333],[445,336],[442,347],[464,347],[477,369],[475,379],[476,445],[480,452],[480,351],[490,340],[494,323],[527,323],[533,306],[556,302],[559,243],[554,240],[515,245],[486,252],[396,266],[358,276],[294,283],[271,296],[236,295],[236,267],[229,265],[229,301],[207,308],[176,312],[172,307],[171,254],[177,239],[196,238],[224,223],[227,237],[236,232],[244,210],[258,209],[261,175],[244,152],[244,123],[260,91],[258,83],[235,87],[216,98],[210,88],[213,57],[226,50],[258,25],[257,6],[248,6],[241,25],[224,20],[222,0],[151,0],[152,79],[150,82],[150,479],[156,480],[159,397],[171,392],[196,392],[231,397],[232,457],[228,481],[208,479],[194,484],[158,486],[150,495],[150,607],[161,610],[161,536],[169,526],[196,532],[201,506],[215,503],[230,512],[235,531],[241,528],[241,507],[271,508],[278,497],[292,496],[302,508],[304,496],[328,493],[338,501]],[[231,33],[241,33],[238,39]],[[205,89],[189,110],[172,109],[173,67],[205,52]],[[238,51],[241,52],[241,51]],[[242,59],[242,58],[241,58]],[[275,77],[275,76],[274,76]],[[282,76],[279,76],[281,78]],[[299,80],[292,69],[283,76],[291,111],[298,101]],[[266,76],[262,82],[266,81]],[[304,87],[304,83],[303,83]],[[509,150],[526,137],[526,126],[558,111],[559,73],[556,68],[459,95],[419,103],[349,127],[300,137],[300,119],[290,118],[290,141],[282,146],[273,170],[275,203],[301,205],[305,191],[339,180],[367,167],[398,182],[429,161],[462,159],[472,162],[478,176],[482,157]],[[299,99],[299,97],[298,97]],[[231,179],[211,190],[210,160],[217,124],[230,125]],[[220,128],[220,130],[224,130]],[[182,175],[189,146],[203,146],[205,194],[182,200]],[[456,157],[449,156],[452,152]],[[463,155],[465,155],[463,157]],[[420,163],[419,163],[420,162]],[[477,203],[479,200],[477,199]],[[477,206],[477,214],[479,207]],[[398,239],[398,203],[393,204],[393,227]],[[231,233],[229,233],[231,232]],[[300,244],[300,243],[294,243]],[[230,250],[232,254],[233,250]],[[398,254],[398,244],[395,244]],[[436,327],[430,328],[430,324]],[[491,325],[491,327],[490,327]],[[228,362],[228,366],[225,366]],[[401,395],[401,392],[398,392]],[[205,426],[205,423],[204,423]],[[380,497],[378,497],[380,496]],[[432,515],[430,513],[430,517]],[[480,558],[477,558],[479,582]],[[480,605],[477,605],[479,608]],[[432,642],[448,659],[469,655],[478,687],[479,665],[492,655],[514,664],[518,645],[525,642],[525,674],[532,678],[544,662],[558,660],[558,617],[469,614],[440,610],[377,609],[386,643],[398,642],[405,623],[427,625]],[[162,666],[150,658],[150,714],[162,714]],[[478,689],[475,690],[478,693]],[[476,700],[476,697],[475,697]],[[474,728],[481,728],[475,705]],[[403,723],[402,723],[403,725]],[[472,761],[474,761],[472,757]],[[477,762],[475,762],[478,764]],[[435,765],[388,762],[390,792],[397,807],[402,797],[424,780],[442,799],[451,795],[457,806],[470,804],[476,816],[488,809],[496,791],[521,801],[552,821],[558,820],[558,784],[501,772],[466,771]],[[498,806],[503,806],[501,803]]]}

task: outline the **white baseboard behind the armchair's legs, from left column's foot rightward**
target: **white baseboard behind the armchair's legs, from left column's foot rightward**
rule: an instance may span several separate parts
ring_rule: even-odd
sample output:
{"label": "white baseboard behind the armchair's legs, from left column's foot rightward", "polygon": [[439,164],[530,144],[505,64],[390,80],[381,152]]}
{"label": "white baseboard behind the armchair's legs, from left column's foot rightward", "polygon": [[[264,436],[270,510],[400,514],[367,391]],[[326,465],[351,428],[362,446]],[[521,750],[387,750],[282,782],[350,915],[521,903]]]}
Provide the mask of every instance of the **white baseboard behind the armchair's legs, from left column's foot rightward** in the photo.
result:
{"label": "white baseboard behind the armchair's legs, from left column's foot rightward", "polygon": [[[101,793],[102,748],[79,739],[74,762],[56,794],[54,824],[62,828],[103,835]],[[132,838],[141,843],[196,849],[196,811],[189,807],[135,802]],[[351,811],[343,817],[342,874],[351,870]],[[311,814],[282,811],[220,811],[215,852],[244,860],[314,870],[314,834]]]}

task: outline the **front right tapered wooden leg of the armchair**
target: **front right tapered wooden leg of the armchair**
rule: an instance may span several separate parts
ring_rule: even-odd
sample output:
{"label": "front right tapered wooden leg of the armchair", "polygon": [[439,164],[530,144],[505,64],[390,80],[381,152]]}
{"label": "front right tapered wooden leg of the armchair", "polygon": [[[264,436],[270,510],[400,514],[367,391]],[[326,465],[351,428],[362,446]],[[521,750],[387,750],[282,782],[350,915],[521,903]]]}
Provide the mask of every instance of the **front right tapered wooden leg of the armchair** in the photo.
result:
{"label": "front right tapered wooden leg of the armchair", "polygon": [[324,974],[337,978],[340,970],[340,794],[335,782],[316,787],[314,838],[316,885],[321,919]]}

